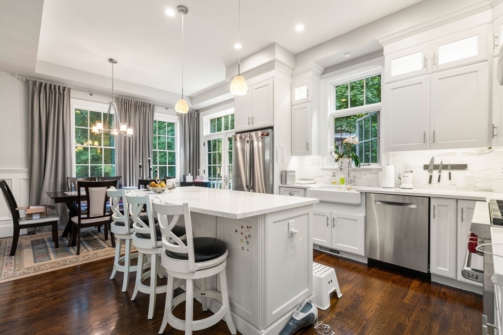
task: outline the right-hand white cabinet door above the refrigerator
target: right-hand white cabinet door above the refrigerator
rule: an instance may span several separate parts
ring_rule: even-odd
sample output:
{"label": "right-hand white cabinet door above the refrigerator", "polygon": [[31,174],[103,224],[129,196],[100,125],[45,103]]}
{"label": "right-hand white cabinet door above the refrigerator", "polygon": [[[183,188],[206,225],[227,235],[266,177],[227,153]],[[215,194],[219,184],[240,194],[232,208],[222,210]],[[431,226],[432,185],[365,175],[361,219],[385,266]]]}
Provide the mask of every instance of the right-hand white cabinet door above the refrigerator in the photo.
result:
{"label": "right-hand white cabinet door above the refrigerator", "polygon": [[273,79],[251,86],[251,127],[264,128],[273,125]]}

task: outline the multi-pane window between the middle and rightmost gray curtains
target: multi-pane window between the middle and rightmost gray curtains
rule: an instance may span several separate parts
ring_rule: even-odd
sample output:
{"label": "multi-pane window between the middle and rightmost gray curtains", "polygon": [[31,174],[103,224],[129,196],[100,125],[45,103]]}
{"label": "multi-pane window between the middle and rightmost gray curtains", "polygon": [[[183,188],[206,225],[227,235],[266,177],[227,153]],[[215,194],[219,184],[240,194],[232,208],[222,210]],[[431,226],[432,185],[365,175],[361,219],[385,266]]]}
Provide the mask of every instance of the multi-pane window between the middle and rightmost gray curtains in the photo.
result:
{"label": "multi-pane window between the middle and rightmost gray curtains", "polygon": [[[176,177],[175,124],[154,120],[152,139],[152,169],[157,169],[159,178]],[[155,174],[155,172],[154,172]]]}

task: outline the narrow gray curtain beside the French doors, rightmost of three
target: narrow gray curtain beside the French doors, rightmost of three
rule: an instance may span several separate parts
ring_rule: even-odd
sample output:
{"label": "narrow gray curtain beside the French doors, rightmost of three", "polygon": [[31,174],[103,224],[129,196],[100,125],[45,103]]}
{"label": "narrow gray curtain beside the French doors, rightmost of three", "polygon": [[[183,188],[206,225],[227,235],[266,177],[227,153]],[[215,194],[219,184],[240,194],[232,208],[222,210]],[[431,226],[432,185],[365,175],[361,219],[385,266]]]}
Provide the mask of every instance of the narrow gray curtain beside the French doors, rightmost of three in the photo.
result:
{"label": "narrow gray curtain beside the French doors, rightmost of three", "polygon": [[187,114],[180,115],[182,143],[180,157],[182,157],[182,173],[194,177],[199,169],[199,113],[196,110],[189,110]]}

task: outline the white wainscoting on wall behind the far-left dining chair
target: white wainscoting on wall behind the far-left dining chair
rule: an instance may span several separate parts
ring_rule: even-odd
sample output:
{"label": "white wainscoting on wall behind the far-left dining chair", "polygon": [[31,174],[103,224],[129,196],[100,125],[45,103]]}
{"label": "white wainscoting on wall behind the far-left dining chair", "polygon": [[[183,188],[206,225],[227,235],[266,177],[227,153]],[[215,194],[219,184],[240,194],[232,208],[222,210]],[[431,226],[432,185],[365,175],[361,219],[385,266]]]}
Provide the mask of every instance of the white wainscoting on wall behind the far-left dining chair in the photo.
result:
{"label": "white wainscoting on wall behind the far-left dining chair", "polygon": [[[9,184],[18,206],[28,205],[30,192],[28,169],[1,169],[0,179],[5,180]],[[21,210],[19,214],[24,216],[24,210]],[[11,212],[5,197],[2,195],[0,197],[0,238],[10,237],[12,234],[13,222]],[[21,230],[21,234],[26,234],[26,230]]]}

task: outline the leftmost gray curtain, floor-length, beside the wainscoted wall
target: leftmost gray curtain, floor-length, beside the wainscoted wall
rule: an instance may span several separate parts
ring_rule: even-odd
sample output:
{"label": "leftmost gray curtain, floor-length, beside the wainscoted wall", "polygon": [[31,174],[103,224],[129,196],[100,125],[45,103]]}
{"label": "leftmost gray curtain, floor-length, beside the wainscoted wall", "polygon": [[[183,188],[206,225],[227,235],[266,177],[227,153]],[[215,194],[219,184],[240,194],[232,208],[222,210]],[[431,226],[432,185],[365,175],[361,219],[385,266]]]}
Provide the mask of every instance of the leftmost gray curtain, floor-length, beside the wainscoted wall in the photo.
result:
{"label": "leftmost gray curtain, floor-length, beside the wainscoted wall", "polygon": [[[33,80],[29,84],[29,204],[51,204],[46,192],[66,190],[66,177],[72,173],[70,88]],[[63,229],[68,220],[66,206],[56,204],[56,212],[59,229]],[[50,231],[50,227],[39,230]]]}

